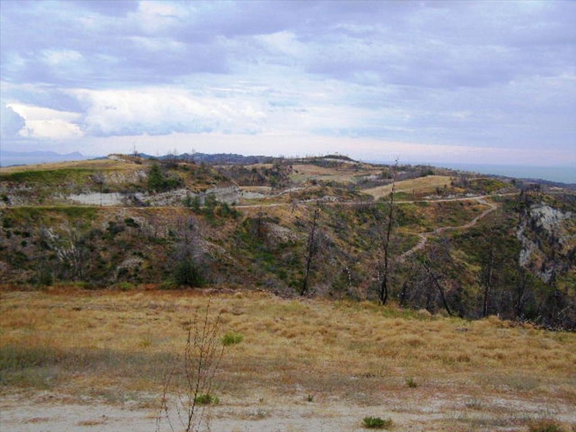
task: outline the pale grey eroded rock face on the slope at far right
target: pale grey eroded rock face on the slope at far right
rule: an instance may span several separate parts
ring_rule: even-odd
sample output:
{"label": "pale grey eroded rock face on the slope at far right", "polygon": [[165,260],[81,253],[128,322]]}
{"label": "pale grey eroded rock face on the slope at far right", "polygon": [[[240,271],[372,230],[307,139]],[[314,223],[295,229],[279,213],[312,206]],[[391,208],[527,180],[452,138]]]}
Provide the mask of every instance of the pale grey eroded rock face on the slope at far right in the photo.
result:
{"label": "pale grey eroded rock face on the slope at far right", "polygon": [[549,283],[574,266],[576,215],[544,203],[531,204],[520,219],[520,265]]}

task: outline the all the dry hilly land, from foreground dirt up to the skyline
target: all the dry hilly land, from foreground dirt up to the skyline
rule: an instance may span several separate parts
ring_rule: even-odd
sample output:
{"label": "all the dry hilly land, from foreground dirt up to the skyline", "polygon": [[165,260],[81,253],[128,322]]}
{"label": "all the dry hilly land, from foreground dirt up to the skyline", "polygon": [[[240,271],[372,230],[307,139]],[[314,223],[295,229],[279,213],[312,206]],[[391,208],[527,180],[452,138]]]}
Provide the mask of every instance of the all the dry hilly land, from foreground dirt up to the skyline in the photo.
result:
{"label": "all the dry hilly land, from foreground dirt up to the skyline", "polygon": [[574,191],[234,158],[0,168],[3,428],[576,423]]}

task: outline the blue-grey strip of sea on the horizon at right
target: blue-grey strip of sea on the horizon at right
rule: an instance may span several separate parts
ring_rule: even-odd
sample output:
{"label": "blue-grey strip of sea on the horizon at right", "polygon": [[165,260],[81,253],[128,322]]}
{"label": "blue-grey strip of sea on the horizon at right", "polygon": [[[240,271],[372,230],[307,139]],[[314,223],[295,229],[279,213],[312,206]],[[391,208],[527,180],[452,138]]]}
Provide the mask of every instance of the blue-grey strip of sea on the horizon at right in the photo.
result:
{"label": "blue-grey strip of sea on the horizon at right", "polygon": [[[388,162],[386,162],[388,163]],[[452,164],[450,162],[406,162],[411,165],[432,165],[438,168],[451,168],[472,171],[480,174],[495,174],[517,179],[541,179],[559,183],[576,183],[576,166],[524,166],[491,164]]]}

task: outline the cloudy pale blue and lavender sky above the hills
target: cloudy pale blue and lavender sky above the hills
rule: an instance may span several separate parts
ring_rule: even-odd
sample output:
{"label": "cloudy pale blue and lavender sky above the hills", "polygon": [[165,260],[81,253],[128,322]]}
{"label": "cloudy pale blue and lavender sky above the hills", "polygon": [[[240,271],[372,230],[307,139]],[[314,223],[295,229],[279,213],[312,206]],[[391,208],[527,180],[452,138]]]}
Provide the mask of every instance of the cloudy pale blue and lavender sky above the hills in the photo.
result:
{"label": "cloudy pale blue and lavender sky above the hills", "polygon": [[0,2],[1,146],[576,164],[576,2]]}

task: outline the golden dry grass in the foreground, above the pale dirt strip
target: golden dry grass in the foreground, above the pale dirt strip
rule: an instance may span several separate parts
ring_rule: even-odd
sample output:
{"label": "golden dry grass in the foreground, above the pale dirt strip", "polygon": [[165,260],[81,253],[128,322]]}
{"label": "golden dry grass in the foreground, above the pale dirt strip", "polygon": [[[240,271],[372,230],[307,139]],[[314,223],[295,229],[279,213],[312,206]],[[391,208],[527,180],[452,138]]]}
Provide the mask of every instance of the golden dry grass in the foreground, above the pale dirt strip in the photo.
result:
{"label": "golden dry grass in the foreground, above the pale dirt strip", "polygon": [[[69,393],[115,403],[118,389],[158,392],[167,362],[181,353],[184,328],[206,306],[208,295],[5,291],[0,298],[0,352],[16,346],[20,355],[26,350],[52,353],[51,367],[58,369],[59,362],[64,366],[50,378],[51,386]],[[394,305],[283,300],[254,291],[213,292],[210,310],[213,317],[221,314],[222,334],[244,336],[242,343],[227,348],[217,376],[224,398],[261,394],[273,400],[301,393],[369,407],[386,395],[408,398],[412,405],[404,408],[407,412],[417,410],[415,401],[425,403],[433,395],[458,403],[498,398],[545,400],[554,406],[576,403],[572,333],[497,317],[465,321]],[[36,369],[40,378],[27,375],[9,384],[44,388],[38,382],[52,369]],[[408,389],[407,378],[418,387]],[[500,408],[483,404],[470,403],[467,409],[499,415]],[[461,420],[450,421],[461,426]]]}

